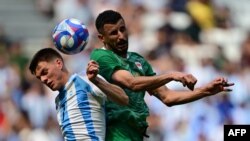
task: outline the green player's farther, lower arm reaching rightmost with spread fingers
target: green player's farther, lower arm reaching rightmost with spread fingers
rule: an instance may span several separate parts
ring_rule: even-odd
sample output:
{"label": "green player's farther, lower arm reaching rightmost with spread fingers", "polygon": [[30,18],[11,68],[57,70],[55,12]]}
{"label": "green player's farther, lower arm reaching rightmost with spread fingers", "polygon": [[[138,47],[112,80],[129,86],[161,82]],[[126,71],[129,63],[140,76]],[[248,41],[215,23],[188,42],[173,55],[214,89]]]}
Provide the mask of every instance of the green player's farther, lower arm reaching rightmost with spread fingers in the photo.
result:
{"label": "green player's farther, lower arm reaching rightmost with spread fingers", "polygon": [[162,86],[154,91],[149,91],[149,93],[156,96],[165,105],[173,106],[189,103],[220,92],[232,91],[229,87],[233,85],[234,83],[228,83],[225,78],[219,77],[207,85],[196,88],[193,91],[173,91],[168,89],[166,86]]}

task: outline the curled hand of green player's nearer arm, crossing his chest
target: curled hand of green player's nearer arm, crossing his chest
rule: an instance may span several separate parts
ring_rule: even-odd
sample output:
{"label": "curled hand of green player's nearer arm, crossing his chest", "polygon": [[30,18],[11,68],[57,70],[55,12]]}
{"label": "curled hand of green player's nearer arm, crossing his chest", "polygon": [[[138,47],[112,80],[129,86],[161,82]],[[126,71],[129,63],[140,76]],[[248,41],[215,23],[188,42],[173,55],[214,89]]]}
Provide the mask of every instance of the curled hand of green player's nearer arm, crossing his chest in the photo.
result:
{"label": "curled hand of green player's nearer arm, crossing his chest", "polygon": [[173,75],[175,81],[179,81],[184,87],[187,86],[190,90],[194,90],[197,79],[192,74],[174,72]]}

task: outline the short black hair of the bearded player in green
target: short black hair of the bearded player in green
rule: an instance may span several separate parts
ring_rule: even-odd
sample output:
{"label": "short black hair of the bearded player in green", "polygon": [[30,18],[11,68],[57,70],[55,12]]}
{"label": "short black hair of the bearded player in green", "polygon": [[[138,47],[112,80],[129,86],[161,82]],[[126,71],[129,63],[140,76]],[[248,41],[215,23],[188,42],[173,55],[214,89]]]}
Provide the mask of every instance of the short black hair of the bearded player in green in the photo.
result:
{"label": "short black hair of the bearded player in green", "polygon": [[114,10],[105,10],[100,13],[95,21],[96,29],[99,33],[102,33],[103,26],[105,24],[115,24],[120,19],[123,19],[122,15]]}

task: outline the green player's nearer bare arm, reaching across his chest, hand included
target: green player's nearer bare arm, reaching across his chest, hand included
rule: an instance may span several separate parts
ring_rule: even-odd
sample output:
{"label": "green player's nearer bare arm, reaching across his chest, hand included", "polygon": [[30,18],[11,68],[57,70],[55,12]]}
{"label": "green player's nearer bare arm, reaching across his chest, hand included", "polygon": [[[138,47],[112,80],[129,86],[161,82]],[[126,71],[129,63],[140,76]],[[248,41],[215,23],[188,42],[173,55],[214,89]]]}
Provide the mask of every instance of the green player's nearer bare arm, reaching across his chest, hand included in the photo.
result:
{"label": "green player's nearer bare arm, reaching across his chest, hand included", "polygon": [[126,70],[116,70],[112,75],[112,80],[123,87],[133,91],[152,90],[165,85],[170,81],[179,81],[183,86],[193,90],[196,78],[191,74],[182,72],[172,72],[157,76],[137,76],[134,77]]}

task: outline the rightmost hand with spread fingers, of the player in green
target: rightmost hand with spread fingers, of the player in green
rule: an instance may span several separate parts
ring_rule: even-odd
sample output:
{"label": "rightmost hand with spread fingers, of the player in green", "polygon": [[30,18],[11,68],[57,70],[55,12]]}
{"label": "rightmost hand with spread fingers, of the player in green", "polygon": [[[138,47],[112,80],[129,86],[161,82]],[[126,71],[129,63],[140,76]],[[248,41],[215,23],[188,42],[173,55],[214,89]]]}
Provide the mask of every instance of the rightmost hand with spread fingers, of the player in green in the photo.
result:
{"label": "rightmost hand with spread fingers, of the player in green", "polygon": [[232,89],[229,87],[233,85],[234,83],[229,83],[225,78],[219,77],[205,86],[205,93],[208,93],[208,95],[214,95],[219,92],[230,92]]}

